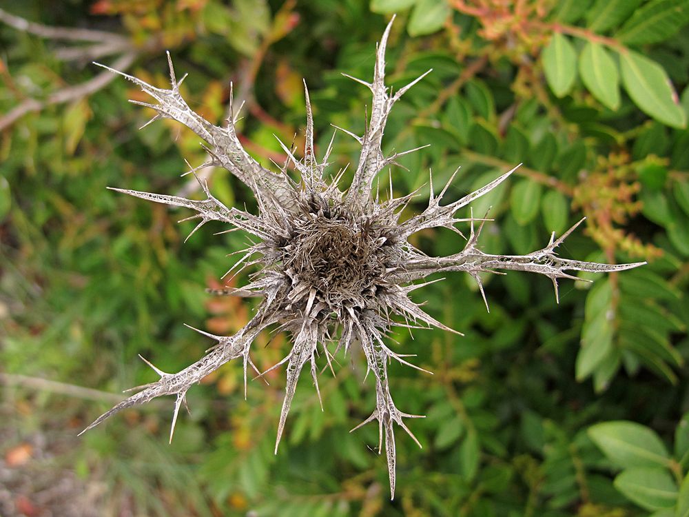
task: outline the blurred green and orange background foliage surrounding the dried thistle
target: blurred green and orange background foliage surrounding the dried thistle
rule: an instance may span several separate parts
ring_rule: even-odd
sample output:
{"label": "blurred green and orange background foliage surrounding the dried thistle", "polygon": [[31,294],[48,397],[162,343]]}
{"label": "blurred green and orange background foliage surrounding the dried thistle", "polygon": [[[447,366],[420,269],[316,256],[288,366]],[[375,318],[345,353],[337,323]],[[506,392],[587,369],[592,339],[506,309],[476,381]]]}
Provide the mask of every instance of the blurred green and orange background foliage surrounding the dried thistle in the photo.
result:
{"label": "blurred green and orange background foliage surrounding the dried thistle", "polygon": [[[689,515],[686,0],[0,6],[0,513]],[[432,144],[391,173],[398,194],[420,188],[410,211],[424,206],[429,168],[438,187],[462,165],[457,198],[524,162],[473,203],[495,218],[484,250],[528,253],[586,216],[563,254],[648,265],[565,282],[559,305],[547,278],[486,276],[490,313],[471,278],[425,287],[430,314],[466,336],[395,336],[435,375],[391,365],[400,409],[427,415],[413,422],[422,450],[398,436],[392,502],[377,429],[348,432],[373,406],[356,354],[322,374],[325,412],[302,383],[277,456],[282,376],[251,383],[245,401],[232,364],[189,392],[172,445],[165,401],[76,438],[121,389],[152,380],[136,354],[178,371],[209,346],[182,323],[232,333],[252,310],[205,292],[243,236],[199,232],[183,245],[186,213],[105,190],[194,192],[179,175],[204,151],[170,121],[137,132],[150,113],[126,99],[141,92],[91,61],[164,85],[169,50],[189,72],[183,94],[214,123],[233,81],[245,148],[282,163],[274,134],[303,139],[302,78],[321,152],[330,124],[362,131],[368,92],[340,72],[371,77],[393,12],[389,83],[433,68],[384,141]],[[336,149],[332,172],[358,145],[338,134]],[[203,174],[225,203],[254,206],[226,172]],[[416,239],[429,254],[462,247],[451,232]],[[276,363],[285,340],[260,336],[257,365]]]}

